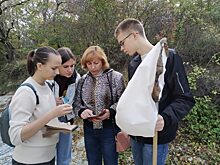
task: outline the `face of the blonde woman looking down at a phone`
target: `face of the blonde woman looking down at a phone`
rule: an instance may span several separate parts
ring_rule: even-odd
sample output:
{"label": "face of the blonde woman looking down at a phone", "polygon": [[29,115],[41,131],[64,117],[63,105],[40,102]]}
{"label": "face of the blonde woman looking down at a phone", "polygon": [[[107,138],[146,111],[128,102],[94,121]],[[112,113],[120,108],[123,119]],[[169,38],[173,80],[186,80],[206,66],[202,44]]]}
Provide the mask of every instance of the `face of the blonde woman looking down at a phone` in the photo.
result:
{"label": "face of the blonde woman looking down at a phone", "polygon": [[98,58],[93,58],[86,63],[86,67],[93,76],[97,76],[102,72],[102,61]]}

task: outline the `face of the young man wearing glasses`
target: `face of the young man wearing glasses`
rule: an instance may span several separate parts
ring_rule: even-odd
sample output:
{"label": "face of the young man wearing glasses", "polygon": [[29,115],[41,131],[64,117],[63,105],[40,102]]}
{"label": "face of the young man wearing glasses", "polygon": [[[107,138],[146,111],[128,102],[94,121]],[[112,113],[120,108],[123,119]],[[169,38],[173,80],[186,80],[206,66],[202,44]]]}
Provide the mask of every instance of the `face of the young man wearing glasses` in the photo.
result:
{"label": "face of the young man wearing glasses", "polygon": [[136,50],[134,49],[133,43],[134,33],[121,32],[119,33],[117,40],[121,47],[121,51],[123,51],[125,54],[128,54],[129,56],[135,54]]}

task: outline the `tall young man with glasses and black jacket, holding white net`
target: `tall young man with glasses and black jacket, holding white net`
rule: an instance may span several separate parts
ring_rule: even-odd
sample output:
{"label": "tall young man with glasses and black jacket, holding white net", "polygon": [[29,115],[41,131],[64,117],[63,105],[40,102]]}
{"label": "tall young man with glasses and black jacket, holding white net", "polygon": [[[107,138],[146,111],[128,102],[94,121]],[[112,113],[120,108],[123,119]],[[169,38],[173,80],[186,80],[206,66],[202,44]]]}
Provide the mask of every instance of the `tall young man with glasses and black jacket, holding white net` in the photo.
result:
{"label": "tall young man with glasses and black jacket, holding white net", "polygon": [[[121,51],[133,56],[128,65],[130,80],[153,45],[147,40],[141,22],[133,18],[125,19],[119,23],[114,35],[121,46]],[[164,66],[164,86],[161,89],[162,96],[159,101],[158,119],[155,127],[155,131],[158,131],[157,164],[159,165],[165,164],[168,144],[176,136],[178,122],[189,113],[195,104],[182,60],[173,49],[168,49],[168,57]],[[152,137],[131,136],[135,165],[152,164],[152,142]]]}

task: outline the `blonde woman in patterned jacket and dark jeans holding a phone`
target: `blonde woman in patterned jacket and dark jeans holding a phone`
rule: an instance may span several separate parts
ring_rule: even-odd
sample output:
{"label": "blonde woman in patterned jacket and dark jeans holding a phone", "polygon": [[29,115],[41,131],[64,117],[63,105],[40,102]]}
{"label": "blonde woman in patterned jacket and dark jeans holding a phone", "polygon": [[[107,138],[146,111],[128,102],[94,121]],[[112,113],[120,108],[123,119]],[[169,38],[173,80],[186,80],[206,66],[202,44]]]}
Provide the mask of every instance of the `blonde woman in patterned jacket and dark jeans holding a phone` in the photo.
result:
{"label": "blonde woman in patterned jacket and dark jeans holding a phone", "polygon": [[[115,125],[117,102],[125,89],[121,73],[110,69],[106,54],[99,46],[87,48],[81,59],[82,76],[74,107],[83,119],[84,140],[89,165],[117,165]],[[102,161],[103,160],[103,161]]]}

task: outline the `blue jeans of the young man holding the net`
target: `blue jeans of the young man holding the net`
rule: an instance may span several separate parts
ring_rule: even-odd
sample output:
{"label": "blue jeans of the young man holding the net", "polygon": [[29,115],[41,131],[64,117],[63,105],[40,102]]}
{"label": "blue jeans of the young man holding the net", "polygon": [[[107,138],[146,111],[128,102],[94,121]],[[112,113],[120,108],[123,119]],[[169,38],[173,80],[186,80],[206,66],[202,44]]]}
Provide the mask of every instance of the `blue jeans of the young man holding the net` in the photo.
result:
{"label": "blue jeans of the young man holding the net", "polygon": [[[152,165],[153,145],[144,144],[131,138],[131,149],[135,165]],[[168,143],[157,145],[157,165],[165,165]]]}

